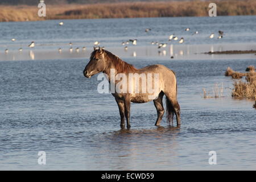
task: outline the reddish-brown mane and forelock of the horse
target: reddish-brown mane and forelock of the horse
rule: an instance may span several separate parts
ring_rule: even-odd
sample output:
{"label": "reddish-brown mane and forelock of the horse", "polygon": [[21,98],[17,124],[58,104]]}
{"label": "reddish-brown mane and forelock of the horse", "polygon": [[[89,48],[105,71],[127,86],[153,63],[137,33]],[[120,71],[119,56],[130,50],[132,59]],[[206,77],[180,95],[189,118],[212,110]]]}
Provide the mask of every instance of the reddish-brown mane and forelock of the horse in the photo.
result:
{"label": "reddish-brown mane and forelock of the horse", "polygon": [[[93,51],[90,56],[90,59],[94,58],[97,52],[99,53],[98,50]],[[111,61],[114,64],[117,73],[129,73],[137,70],[133,65],[126,63],[125,61],[121,60],[118,56],[115,56],[113,53],[106,50],[104,50],[104,52],[105,59],[107,61]]]}

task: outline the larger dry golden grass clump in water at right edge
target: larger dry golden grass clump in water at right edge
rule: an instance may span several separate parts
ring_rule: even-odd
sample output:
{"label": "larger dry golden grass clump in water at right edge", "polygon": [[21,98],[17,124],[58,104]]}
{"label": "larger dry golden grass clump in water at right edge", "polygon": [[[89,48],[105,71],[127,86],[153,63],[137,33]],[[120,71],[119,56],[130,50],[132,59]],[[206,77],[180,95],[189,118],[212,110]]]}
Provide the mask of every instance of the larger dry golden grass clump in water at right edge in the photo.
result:
{"label": "larger dry golden grass clump in water at right edge", "polygon": [[234,88],[232,90],[232,97],[236,98],[249,98],[256,100],[256,72],[253,66],[246,68],[249,73],[234,72],[228,67],[225,76],[232,76],[232,78],[245,77],[245,81],[237,80],[234,81]]}

